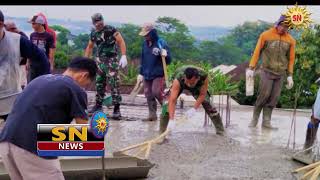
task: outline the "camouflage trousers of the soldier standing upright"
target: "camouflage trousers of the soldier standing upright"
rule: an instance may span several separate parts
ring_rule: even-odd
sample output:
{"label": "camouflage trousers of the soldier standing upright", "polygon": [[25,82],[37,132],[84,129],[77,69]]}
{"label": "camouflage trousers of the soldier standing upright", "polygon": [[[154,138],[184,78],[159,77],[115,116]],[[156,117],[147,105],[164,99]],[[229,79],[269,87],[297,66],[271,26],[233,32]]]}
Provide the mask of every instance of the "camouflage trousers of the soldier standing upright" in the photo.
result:
{"label": "camouflage trousers of the soldier standing upright", "polygon": [[98,72],[96,76],[96,105],[102,106],[105,97],[106,85],[111,87],[112,104],[119,105],[121,95],[119,91],[119,61],[118,58],[98,58]]}

